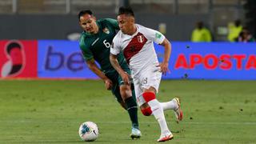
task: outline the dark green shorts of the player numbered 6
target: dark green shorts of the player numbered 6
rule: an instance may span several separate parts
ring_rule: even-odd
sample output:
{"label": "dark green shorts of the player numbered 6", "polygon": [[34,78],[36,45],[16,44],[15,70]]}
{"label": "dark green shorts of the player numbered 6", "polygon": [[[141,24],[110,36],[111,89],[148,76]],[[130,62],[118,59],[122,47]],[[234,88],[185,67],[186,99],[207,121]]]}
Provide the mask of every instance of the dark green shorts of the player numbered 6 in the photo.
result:
{"label": "dark green shorts of the player numbered 6", "polygon": [[[122,70],[124,70],[124,71],[126,71],[126,73],[130,74],[130,69],[126,64],[122,64],[121,67],[122,67]],[[119,75],[118,72],[116,70],[114,70],[114,71],[106,73],[106,77],[110,78],[110,80],[113,82],[113,86],[112,86],[112,89],[111,89],[112,94],[114,94],[114,97],[116,98],[116,100],[119,103],[122,102],[122,96],[120,94],[120,89],[119,89],[119,87],[121,85],[123,85],[121,75]],[[133,90],[133,97],[135,98],[133,84],[131,86],[131,90]]]}

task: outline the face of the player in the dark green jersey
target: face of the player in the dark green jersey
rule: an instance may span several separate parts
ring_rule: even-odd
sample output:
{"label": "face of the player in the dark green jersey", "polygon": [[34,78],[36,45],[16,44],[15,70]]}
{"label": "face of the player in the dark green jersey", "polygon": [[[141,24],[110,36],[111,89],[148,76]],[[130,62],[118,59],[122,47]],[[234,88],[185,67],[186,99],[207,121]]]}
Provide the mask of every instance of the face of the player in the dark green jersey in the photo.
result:
{"label": "face of the player in the dark green jersey", "polygon": [[84,14],[80,17],[80,26],[83,30],[85,30],[88,33],[97,33],[97,24],[96,24],[96,18],[90,14]]}

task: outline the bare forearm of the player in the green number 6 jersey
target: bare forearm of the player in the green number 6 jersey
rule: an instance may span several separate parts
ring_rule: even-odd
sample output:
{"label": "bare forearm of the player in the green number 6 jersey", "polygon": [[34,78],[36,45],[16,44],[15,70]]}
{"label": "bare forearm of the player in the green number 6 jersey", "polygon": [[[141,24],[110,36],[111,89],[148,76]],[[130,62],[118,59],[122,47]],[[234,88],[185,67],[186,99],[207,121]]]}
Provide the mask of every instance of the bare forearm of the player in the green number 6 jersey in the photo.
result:
{"label": "bare forearm of the player in the green number 6 jersey", "polygon": [[94,62],[94,59],[86,61],[86,64],[89,69],[94,72],[94,74],[97,74],[99,78],[102,78],[102,80],[105,82],[106,90],[110,90],[112,87],[112,81],[107,78],[105,74],[102,73],[102,70],[98,68],[98,66]]}

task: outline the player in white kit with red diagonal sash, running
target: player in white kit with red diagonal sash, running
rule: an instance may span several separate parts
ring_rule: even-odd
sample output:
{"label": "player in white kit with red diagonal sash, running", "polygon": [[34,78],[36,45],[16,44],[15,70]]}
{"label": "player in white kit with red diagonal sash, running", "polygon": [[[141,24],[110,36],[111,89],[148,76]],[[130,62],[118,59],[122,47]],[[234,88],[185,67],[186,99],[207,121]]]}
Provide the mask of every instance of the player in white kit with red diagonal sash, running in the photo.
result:
{"label": "player in white kit with red diagonal sash, running", "polygon": [[[118,54],[122,51],[126,62],[130,66],[131,77],[134,81],[135,93],[142,114],[154,115],[161,127],[161,135],[158,142],[165,142],[174,138],[170,132],[164,115],[164,110],[174,110],[178,120],[182,120],[182,110],[178,98],[169,102],[158,102],[155,95],[162,74],[168,70],[171,46],[170,42],[157,30],[135,24],[134,12],[130,7],[120,7],[118,12],[118,26],[120,31],[114,37],[110,49],[110,62],[118,74],[122,76],[125,83],[130,83],[130,75],[122,70],[118,63]],[[162,63],[158,62],[154,50],[156,42],[165,48]]]}

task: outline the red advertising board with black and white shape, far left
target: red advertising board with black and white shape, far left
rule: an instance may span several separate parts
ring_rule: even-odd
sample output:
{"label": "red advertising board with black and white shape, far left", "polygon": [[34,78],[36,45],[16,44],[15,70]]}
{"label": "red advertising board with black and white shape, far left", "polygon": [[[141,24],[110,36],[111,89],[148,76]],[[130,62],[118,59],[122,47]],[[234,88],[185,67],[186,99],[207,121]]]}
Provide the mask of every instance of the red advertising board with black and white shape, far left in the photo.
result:
{"label": "red advertising board with black and white shape, far left", "polygon": [[37,41],[0,41],[0,78],[37,78]]}

